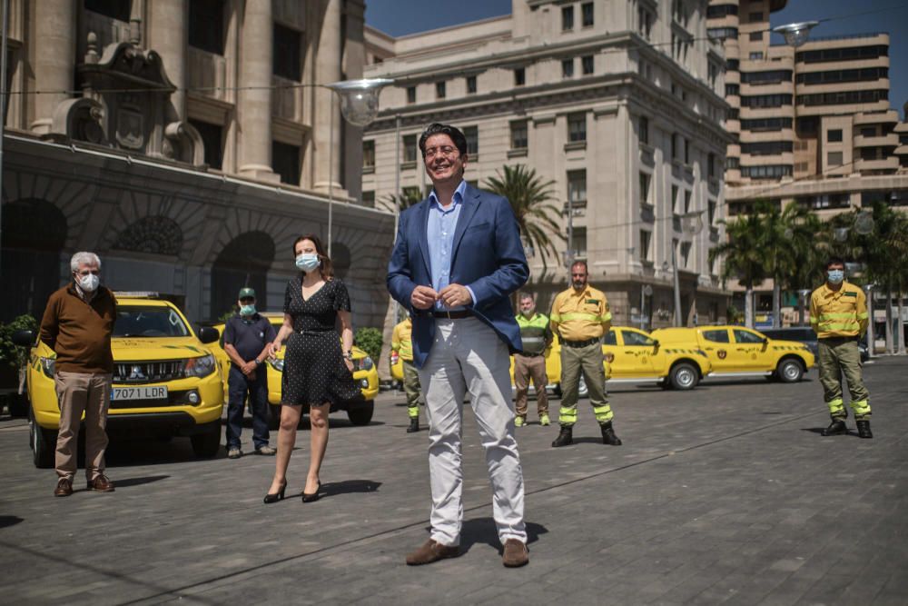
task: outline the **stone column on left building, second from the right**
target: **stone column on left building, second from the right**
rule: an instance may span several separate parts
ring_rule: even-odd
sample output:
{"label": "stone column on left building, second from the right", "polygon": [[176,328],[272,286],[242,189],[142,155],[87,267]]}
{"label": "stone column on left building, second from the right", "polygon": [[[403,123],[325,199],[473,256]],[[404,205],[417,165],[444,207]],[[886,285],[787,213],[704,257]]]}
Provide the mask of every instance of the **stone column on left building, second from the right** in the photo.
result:
{"label": "stone column on left building, second from the right", "polygon": [[243,7],[239,95],[240,174],[280,181],[271,169],[271,53],[274,22],[271,0],[246,0]]}

